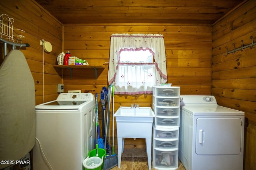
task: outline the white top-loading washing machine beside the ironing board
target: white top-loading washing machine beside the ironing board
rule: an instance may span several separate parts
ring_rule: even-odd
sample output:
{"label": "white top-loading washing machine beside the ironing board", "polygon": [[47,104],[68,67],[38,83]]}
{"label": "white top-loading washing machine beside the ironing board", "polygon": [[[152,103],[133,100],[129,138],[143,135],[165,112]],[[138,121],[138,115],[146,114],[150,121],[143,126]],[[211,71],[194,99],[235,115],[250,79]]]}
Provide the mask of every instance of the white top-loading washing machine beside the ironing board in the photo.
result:
{"label": "white top-loading washing machine beside the ironing board", "polygon": [[94,149],[95,105],[90,93],[61,93],[36,106],[35,170],[83,169],[84,159]]}

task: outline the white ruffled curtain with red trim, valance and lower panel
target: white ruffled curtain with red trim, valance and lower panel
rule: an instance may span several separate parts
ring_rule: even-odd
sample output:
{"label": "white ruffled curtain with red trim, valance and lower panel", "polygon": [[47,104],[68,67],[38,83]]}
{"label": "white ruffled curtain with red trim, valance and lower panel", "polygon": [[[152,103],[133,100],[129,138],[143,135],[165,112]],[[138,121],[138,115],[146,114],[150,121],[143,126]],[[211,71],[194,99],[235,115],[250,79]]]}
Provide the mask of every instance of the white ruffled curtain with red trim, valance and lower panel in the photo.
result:
{"label": "white ruffled curtain with red trim, valance and lower panel", "polygon": [[[151,49],[154,63],[120,63],[121,49]],[[152,93],[152,86],[167,82],[164,37],[159,34],[112,34],[108,83],[115,94]]]}

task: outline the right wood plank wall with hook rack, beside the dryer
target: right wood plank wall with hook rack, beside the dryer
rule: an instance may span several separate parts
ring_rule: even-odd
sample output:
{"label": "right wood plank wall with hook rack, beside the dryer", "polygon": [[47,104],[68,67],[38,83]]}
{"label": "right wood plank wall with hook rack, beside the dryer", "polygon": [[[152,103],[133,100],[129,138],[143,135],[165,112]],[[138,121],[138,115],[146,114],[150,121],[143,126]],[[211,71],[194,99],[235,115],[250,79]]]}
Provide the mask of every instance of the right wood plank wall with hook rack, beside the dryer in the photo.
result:
{"label": "right wood plank wall with hook rack, beside the dryer", "polygon": [[212,94],[221,106],[245,112],[244,169],[256,170],[256,1],[249,0],[212,27]]}

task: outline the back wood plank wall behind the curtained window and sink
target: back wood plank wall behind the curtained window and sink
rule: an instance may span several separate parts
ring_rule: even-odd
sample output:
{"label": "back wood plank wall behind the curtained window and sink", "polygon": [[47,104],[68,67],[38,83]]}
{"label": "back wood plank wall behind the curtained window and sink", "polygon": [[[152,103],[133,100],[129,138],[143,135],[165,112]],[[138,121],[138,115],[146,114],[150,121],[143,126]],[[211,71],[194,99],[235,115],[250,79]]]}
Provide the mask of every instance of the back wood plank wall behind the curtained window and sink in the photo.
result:
{"label": "back wood plank wall behind the curtained window and sink", "polygon": [[[70,71],[64,70],[64,92],[82,90],[99,94],[102,87],[108,85],[108,65],[104,63],[109,62],[110,35],[113,33],[163,34],[168,83],[180,86],[181,94],[211,94],[212,27],[174,24],[64,25],[65,52],[70,50],[72,56],[86,59],[90,65],[104,66],[97,80],[90,69],[74,69],[72,79]],[[115,95],[114,98],[115,111],[134,103],[152,106],[152,94]],[[112,127],[112,118],[110,123]],[[125,147],[145,148],[145,141],[126,139]]]}

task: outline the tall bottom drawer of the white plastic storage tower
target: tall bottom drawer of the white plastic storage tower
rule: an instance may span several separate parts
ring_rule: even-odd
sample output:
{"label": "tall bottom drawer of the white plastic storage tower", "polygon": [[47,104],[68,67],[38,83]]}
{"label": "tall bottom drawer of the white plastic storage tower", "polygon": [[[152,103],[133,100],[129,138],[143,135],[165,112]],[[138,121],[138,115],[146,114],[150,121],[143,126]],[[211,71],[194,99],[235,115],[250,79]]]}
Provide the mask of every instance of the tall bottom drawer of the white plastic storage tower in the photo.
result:
{"label": "tall bottom drawer of the white plastic storage tower", "polygon": [[153,167],[156,169],[177,169],[178,149],[153,149]]}

